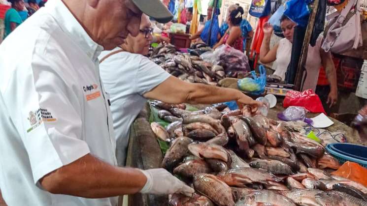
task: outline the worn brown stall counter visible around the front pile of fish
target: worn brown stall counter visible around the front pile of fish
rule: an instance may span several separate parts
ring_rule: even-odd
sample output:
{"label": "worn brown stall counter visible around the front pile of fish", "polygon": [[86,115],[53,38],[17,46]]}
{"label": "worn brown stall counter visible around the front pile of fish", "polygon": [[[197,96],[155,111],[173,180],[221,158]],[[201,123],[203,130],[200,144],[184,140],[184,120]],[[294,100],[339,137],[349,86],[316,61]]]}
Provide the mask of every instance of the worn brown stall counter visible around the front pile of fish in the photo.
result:
{"label": "worn brown stall counter visible around the front pile of fish", "polygon": [[[208,105],[193,105],[199,110],[204,109]],[[281,103],[278,103],[274,108],[268,112],[268,118],[277,120],[277,114],[284,111]],[[156,135],[151,130],[149,123],[150,107],[147,106],[140,112],[135,119],[130,134],[127,166],[137,167],[140,169],[152,169],[162,167],[162,160],[164,158],[160,143],[157,141]],[[313,118],[317,114],[308,114],[308,118]],[[331,133],[343,133],[348,143],[363,144],[359,140],[358,134],[353,133],[352,128],[331,118],[334,124],[328,127]],[[129,206],[167,206],[168,196],[155,195],[141,195],[135,194],[129,196]]]}

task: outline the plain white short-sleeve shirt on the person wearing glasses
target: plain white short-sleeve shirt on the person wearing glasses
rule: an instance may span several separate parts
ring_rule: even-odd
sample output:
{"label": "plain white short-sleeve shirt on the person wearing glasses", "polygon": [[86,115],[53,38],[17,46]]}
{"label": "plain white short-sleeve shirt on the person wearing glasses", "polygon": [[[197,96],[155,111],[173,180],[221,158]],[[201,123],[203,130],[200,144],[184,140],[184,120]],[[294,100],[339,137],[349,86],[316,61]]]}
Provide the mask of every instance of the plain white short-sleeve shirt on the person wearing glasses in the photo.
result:
{"label": "plain white short-sleeve shirt on the person wearing glasses", "polygon": [[[117,50],[103,51],[100,59]],[[167,80],[170,74],[142,55],[120,52],[100,63],[100,77],[110,95],[117,159],[119,165],[125,165],[130,125],[146,104],[143,94]]]}

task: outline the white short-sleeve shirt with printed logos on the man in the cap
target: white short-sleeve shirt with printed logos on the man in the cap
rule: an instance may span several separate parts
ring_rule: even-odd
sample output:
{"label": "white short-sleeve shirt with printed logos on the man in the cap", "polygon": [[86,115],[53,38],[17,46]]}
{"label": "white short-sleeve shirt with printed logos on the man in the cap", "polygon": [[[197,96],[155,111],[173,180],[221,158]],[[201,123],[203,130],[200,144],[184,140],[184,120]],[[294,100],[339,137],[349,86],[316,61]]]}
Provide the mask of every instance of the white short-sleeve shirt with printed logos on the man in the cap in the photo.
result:
{"label": "white short-sleeve shirt with printed logos on the man in the cap", "polygon": [[0,45],[0,188],[9,206],[116,206],[54,195],[39,179],[91,153],[116,165],[95,43],[61,0],[49,0]]}

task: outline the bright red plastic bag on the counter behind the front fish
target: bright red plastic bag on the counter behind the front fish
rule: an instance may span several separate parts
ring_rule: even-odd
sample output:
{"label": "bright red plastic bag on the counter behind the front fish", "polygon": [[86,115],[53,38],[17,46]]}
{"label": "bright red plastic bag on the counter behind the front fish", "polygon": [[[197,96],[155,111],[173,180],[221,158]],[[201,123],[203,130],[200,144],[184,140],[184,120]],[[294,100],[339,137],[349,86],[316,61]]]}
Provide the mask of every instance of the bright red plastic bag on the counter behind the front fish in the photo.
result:
{"label": "bright red plastic bag on the counter behind the front fish", "polygon": [[312,89],[303,92],[288,91],[283,101],[283,107],[290,106],[300,106],[312,113],[324,113],[326,115],[319,96]]}

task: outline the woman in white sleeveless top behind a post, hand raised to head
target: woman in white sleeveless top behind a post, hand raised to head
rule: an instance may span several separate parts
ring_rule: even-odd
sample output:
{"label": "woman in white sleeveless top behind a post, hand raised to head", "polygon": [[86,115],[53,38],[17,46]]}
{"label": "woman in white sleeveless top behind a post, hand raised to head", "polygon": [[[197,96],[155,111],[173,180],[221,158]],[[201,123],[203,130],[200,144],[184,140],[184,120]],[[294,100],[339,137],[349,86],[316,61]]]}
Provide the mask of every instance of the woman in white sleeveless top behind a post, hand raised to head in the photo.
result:
{"label": "woman in white sleeveless top behind a post, hand raised to head", "polygon": [[[293,32],[296,23],[283,15],[280,19],[280,26],[285,38],[281,39],[279,43],[275,44],[270,49],[270,37],[273,27],[270,24],[264,26],[264,40],[260,48],[260,61],[262,63],[273,62],[274,74],[278,75],[284,81],[285,73],[288,64],[291,60]],[[314,47],[308,47],[307,60],[305,68],[307,76],[303,84],[303,90],[312,89],[315,91],[317,80],[319,76],[319,69],[321,65],[325,68],[326,76],[330,82],[330,92],[328,94],[328,104],[333,106],[337,101],[337,85],[336,85],[336,71],[331,54],[325,52],[321,48],[322,36],[316,41]]]}

